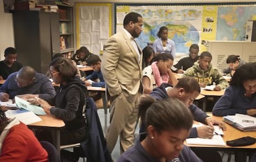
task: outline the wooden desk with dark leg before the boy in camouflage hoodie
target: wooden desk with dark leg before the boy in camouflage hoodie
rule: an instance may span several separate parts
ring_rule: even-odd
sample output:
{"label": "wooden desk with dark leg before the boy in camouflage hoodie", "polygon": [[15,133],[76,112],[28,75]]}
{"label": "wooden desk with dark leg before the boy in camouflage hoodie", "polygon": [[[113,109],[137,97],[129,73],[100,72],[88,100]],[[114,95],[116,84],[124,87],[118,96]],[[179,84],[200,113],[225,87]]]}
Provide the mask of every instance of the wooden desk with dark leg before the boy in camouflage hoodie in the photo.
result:
{"label": "wooden desk with dark leg before the boy in camouflage hoodie", "polygon": [[202,90],[200,94],[205,95],[205,98],[203,99],[203,111],[206,111],[207,109],[207,99],[208,97],[213,97],[213,99],[218,99],[224,94],[225,90],[221,89],[221,91],[207,91],[207,90]]}

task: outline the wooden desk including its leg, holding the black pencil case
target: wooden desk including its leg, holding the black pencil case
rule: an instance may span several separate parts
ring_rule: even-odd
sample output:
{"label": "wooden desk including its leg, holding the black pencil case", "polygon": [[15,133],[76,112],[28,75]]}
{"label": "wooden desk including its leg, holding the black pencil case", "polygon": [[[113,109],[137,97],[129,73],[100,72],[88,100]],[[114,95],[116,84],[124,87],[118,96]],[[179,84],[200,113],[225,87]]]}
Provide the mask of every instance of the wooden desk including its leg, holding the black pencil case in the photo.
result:
{"label": "wooden desk including its leg, holding the black pencil case", "polygon": [[[208,114],[209,115],[209,114]],[[211,116],[211,115],[209,115]],[[212,118],[222,121],[223,117],[219,116],[212,116]],[[238,129],[234,128],[233,126],[226,124],[227,130],[223,131],[223,140],[226,143],[228,140],[234,140],[245,136],[251,136],[256,138],[256,131],[249,131],[249,132],[242,132]],[[186,142],[185,142],[186,144]],[[188,145],[188,144],[186,144]],[[246,161],[245,158],[247,156],[247,153],[249,152],[255,152],[256,144],[253,145],[247,145],[242,147],[231,147],[231,146],[213,146],[213,145],[188,145],[189,147],[195,148],[195,149],[212,149],[216,151],[232,151],[235,153],[236,161],[244,162]]]}

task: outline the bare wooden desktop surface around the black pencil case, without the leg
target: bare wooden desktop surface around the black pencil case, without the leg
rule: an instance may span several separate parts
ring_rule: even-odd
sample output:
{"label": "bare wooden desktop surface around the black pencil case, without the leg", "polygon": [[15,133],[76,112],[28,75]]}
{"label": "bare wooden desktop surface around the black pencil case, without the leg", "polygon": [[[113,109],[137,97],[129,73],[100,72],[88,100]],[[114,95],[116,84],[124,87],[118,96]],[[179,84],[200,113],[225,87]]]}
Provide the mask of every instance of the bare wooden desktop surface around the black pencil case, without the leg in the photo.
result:
{"label": "bare wooden desktop surface around the black pencil case, without the leg", "polygon": [[[212,118],[214,118],[218,121],[222,121],[222,119],[223,119],[223,117],[219,117],[219,116],[212,116]],[[226,126],[227,126],[227,130],[223,131],[224,132],[223,140],[225,143],[227,140],[234,140],[234,139],[238,139],[238,138],[245,137],[245,136],[251,136],[251,137],[256,138],[256,131],[242,132],[229,124],[226,124]],[[185,144],[186,144],[186,142],[185,142]],[[186,144],[186,145],[188,145],[188,144]],[[228,145],[226,145],[226,146],[188,145],[188,146],[189,147],[215,147],[215,148],[256,148],[256,143],[254,145],[247,145],[247,146],[242,146],[242,147],[230,147]]]}

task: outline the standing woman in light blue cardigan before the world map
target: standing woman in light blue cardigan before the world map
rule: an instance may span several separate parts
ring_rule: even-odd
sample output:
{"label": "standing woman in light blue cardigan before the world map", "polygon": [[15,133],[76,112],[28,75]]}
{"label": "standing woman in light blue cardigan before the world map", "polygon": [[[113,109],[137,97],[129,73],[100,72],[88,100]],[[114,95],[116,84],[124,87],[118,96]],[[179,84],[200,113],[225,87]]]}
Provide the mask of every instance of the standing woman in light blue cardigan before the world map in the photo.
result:
{"label": "standing woman in light blue cardigan before the world map", "polygon": [[168,39],[168,28],[166,26],[161,26],[157,36],[159,39],[156,39],[153,43],[155,53],[167,52],[173,55],[173,58],[175,58],[176,47],[174,41]]}

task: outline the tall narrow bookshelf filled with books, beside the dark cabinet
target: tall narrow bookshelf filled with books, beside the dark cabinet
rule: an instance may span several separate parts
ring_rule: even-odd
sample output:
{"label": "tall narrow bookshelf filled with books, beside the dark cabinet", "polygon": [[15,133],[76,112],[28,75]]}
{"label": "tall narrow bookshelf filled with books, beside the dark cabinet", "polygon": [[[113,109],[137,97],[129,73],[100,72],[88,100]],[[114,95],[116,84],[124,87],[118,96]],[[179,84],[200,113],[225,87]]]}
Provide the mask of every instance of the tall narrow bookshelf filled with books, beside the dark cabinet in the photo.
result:
{"label": "tall narrow bookshelf filled with books, beside the dark cabinet", "polygon": [[59,8],[59,40],[61,54],[71,57],[74,54],[73,7],[58,4]]}

